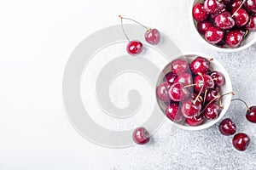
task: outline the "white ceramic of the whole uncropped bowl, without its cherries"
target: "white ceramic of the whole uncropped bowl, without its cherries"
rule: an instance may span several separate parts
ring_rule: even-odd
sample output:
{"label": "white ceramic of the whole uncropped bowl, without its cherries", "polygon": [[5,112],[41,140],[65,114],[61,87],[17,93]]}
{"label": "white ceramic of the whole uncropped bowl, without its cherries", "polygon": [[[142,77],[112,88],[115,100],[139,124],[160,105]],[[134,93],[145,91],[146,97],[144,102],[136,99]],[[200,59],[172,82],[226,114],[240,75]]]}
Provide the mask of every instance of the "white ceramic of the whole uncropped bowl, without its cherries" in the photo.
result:
{"label": "white ceramic of the whole uncropped bowl, without its cherries", "polygon": [[[212,58],[212,57],[208,56],[207,54],[195,54],[195,53],[184,54],[180,57],[184,57],[185,59],[187,59],[189,61],[189,63],[191,63],[192,60],[198,56],[201,56],[201,57],[204,57],[207,59]],[[160,74],[160,77],[158,78],[158,85],[160,84],[160,82],[162,82],[163,77],[166,75],[166,73],[170,72],[171,70],[172,70],[171,63],[169,63],[168,65],[166,65],[166,67],[163,69],[162,73]],[[218,60],[213,58],[211,65],[210,65],[210,70],[211,71],[220,71],[224,74],[225,83],[224,83],[224,86],[221,88],[221,94],[226,94],[226,93],[232,92],[232,84],[230,81],[229,73],[225,70],[224,66],[218,62]],[[226,111],[228,111],[228,109],[229,109],[231,99],[232,99],[231,94],[226,95],[226,96],[224,96],[224,98],[222,98],[224,109],[219,113],[217,119],[212,120],[212,121],[205,120],[201,125],[196,126],[196,127],[191,127],[188,124],[186,124],[186,122],[184,122],[184,121],[172,122],[172,120],[170,120],[166,116],[166,104],[163,101],[161,101],[160,99],[157,99],[157,101],[158,101],[158,105],[160,106],[160,110],[166,116],[167,122],[170,122],[173,125],[177,126],[178,128],[182,128],[185,130],[201,130],[201,129],[205,129],[207,127],[211,127],[212,125],[217,123],[219,120],[221,120],[221,118],[224,116]]]}

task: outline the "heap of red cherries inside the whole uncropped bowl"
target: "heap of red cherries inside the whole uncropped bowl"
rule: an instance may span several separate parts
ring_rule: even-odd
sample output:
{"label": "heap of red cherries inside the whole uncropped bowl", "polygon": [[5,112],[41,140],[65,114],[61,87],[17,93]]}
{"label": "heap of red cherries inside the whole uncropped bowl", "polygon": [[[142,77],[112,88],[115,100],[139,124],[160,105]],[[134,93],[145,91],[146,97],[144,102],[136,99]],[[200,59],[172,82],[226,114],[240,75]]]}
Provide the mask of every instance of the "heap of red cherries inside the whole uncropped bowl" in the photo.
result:
{"label": "heap of red cherries inside the whole uncropped bowl", "polygon": [[218,117],[223,108],[221,98],[226,95],[220,94],[225,78],[221,72],[209,70],[210,64],[211,59],[199,56],[191,64],[185,58],[172,61],[171,71],[156,94],[166,104],[166,116],[173,122],[199,126]]}

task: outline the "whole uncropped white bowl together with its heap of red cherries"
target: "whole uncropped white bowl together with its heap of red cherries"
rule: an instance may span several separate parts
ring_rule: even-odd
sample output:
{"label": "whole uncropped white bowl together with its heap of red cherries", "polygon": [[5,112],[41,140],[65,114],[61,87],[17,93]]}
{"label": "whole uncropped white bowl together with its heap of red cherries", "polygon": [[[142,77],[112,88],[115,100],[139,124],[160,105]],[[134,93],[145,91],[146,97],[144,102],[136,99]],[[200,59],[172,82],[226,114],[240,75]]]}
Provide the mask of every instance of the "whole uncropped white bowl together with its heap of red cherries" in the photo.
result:
{"label": "whole uncropped white bowl together with its heap of red cherries", "polygon": [[156,96],[171,122],[198,130],[224,116],[231,99],[231,95],[224,95],[232,94],[232,88],[228,73],[216,59],[185,55],[166,65],[163,73]]}

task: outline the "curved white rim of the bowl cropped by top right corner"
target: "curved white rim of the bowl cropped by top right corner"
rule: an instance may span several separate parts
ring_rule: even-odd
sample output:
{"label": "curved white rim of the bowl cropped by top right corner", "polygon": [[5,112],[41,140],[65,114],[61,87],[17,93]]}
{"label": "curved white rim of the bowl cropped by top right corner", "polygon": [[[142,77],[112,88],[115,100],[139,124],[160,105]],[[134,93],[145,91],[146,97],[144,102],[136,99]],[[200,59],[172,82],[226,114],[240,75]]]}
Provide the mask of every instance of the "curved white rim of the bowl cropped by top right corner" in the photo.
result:
{"label": "curved white rim of the bowl cropped by top right corner", "polygon": [[253,40],[251,40],[250,42],[247,42],[246,44],[244,44],[243,46],[241,46],[239,48],[218,48],[217,46],[207,42],[203,37],[201,37],[200,33],[195,28],[195,23],[194,23],[193,14],[192,14],[192,9],[194,7],[195,1],[198,1],[198,0],[193,0],[190,3],[189,22],[190,22],[191,27],[193,27],[192,30],[195,32],[197,37],[200,37],[200,39],[203,40],[203,42],[205,44],[207,44],[208,47],[211,47],[211,48],[216,49],[216,50],[221,51],[221,52],[238,52],[238,51],[241,51],[241,50],[244,50],[246,48],[251,47],[256,42],[256,37],[254,37]]}

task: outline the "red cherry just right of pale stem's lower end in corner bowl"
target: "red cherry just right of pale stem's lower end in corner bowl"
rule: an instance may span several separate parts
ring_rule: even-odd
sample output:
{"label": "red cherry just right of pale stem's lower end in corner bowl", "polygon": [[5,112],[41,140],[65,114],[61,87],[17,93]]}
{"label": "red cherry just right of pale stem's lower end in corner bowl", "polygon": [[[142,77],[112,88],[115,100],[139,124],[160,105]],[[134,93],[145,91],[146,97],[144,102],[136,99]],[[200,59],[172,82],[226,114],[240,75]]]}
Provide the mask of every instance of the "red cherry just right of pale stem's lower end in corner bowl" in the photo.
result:
{"label": "red cherry just right of pale stem's lower end in corner bowl", "polygon": [[[236,9],[233,9],[232,15],[236,12]],[[245,26],[247,25],[247,22],[249,21],[249,14],[244,8],[240,8],[233,16],[233,19],[235,20],[236,26]]]}

